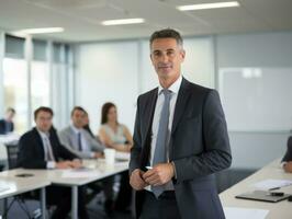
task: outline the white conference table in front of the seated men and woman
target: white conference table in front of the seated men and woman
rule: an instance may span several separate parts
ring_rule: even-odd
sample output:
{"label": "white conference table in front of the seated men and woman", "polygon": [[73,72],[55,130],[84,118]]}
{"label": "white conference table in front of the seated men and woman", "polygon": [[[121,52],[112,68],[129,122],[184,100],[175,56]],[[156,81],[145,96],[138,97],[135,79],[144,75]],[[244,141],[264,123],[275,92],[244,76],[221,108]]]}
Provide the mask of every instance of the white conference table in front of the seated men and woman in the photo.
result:
{"label": "white conference table in front of the seated men and woman", "polygon": [[[4,178],[7,181],[11,180],[12,182],[18,183],[24,178],[20,180],[15,175],[31,174],[31,176],[25,177],[25,180],[29,180],[29,181],[26,182],[23,181],[24,185],[25,183],[30,184],[30,182],[38,182],[40,188],[41,188],[47,185],[45,184],[45,182],[48,182],[48,184],[53,184],[53,185],[71,187],[71,218],[77,219],[78,218],[78,186],[87,185],[89,183],[102,180],[106,176],[121,173],[128,169],[127,159],[120,159],[120,161],[116,161],[113,164],[106,164],[104,159],[83,160],[82,162],[83,162],[83,168],[77,169],[77,170],[72,170],[72,169],[70,170],[14,169],[14,170],[9,170],[9,171],[3,171],[0,173],[0,180],[1,178]],[[18,191],[18,192],[21,192],[21,191]],[[43,198],[42,198],[42,203],[44,203]],[[43,215],[45,215],[44,212],[45,211],[43,211]]]}

